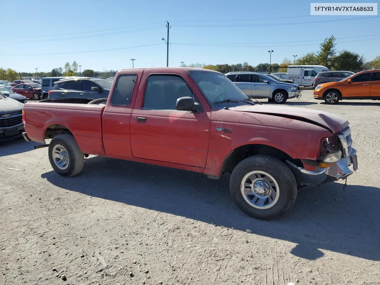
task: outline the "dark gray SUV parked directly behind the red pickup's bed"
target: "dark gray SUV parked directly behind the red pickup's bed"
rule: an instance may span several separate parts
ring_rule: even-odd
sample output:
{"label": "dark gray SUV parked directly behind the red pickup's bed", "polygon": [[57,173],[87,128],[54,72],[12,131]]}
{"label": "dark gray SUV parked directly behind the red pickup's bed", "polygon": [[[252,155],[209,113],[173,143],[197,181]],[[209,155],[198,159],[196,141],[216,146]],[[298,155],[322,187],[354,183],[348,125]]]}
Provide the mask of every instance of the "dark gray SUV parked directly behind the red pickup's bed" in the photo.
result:
{"label": "dark gray SUV parked directly behind the red pickup's bed", "polygon": [[100,99],[107,98],[112,81],[101,78],[72,77],[56,81],[49,91],[49,99]]}

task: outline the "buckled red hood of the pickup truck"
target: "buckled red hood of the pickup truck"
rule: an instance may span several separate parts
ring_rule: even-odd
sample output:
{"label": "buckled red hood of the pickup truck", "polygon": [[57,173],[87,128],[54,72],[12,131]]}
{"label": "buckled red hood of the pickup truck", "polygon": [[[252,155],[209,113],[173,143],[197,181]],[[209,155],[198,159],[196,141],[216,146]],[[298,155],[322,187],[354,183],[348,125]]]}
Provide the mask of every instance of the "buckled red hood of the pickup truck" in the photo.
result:
{"label": "buckled red hood of the pickup truck", "polygon": [[332,133],[336,133],[337,131],[344,129],[349,124],[346,119],[340,116],[328,112],[306,108],[296,108],[290,106],[249,105],[237,106],[229,109],[239,112],[266,114],[300,120],[323,127]]}

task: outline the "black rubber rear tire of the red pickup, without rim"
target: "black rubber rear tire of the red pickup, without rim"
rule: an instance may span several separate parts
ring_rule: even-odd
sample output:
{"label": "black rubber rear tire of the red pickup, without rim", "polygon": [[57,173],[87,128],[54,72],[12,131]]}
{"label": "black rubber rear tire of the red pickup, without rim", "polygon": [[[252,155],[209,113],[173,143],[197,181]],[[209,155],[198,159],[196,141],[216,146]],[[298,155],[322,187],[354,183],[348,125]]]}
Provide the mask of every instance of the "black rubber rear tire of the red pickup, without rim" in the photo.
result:
{"label": "black rubber rear tire of the red pickup, without rim", "polygon": [[[54,162],[53,150],[57,145],[61,145],[67,150],[69,160],[66,169],[60,169]],[[79,149],[79,146],[72,135],[58,135],[52,138],[49,144],[49,161],[56,173],[62,176],[70,177],[82,171],[84,165],[84,154],[81,149]]]}

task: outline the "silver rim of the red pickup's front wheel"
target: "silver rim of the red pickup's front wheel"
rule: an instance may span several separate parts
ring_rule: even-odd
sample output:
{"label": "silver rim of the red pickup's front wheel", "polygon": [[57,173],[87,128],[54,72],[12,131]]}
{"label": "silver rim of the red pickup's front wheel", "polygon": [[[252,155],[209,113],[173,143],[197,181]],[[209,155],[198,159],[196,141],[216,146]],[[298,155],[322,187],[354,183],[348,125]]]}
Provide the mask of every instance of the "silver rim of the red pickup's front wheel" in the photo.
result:
{"label": "silver rim of the red pickup's front wheel", "polygon": [[244,200],[253,208],[269,209],[280,198],[280,187],[271,174],[254,170],[243,177],[240,184]]}

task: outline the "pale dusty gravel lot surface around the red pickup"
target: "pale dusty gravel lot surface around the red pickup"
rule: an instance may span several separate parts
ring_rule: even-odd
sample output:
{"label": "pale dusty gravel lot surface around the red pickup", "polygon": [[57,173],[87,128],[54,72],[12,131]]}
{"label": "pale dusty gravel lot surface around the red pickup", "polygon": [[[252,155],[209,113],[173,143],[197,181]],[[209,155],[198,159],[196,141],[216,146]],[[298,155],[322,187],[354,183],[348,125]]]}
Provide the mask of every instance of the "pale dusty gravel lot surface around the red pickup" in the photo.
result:
{"label": "pale dusty gravel lot surface around the red pickup", "polygon": [[228,175],[90,156],[64,178],[46,148],[1,144],[0,284],[380,284],[380,101],[302,93],[287,105],[350,121],[359,169],[345,191],[304,188],[272,222],[237,208]]}

